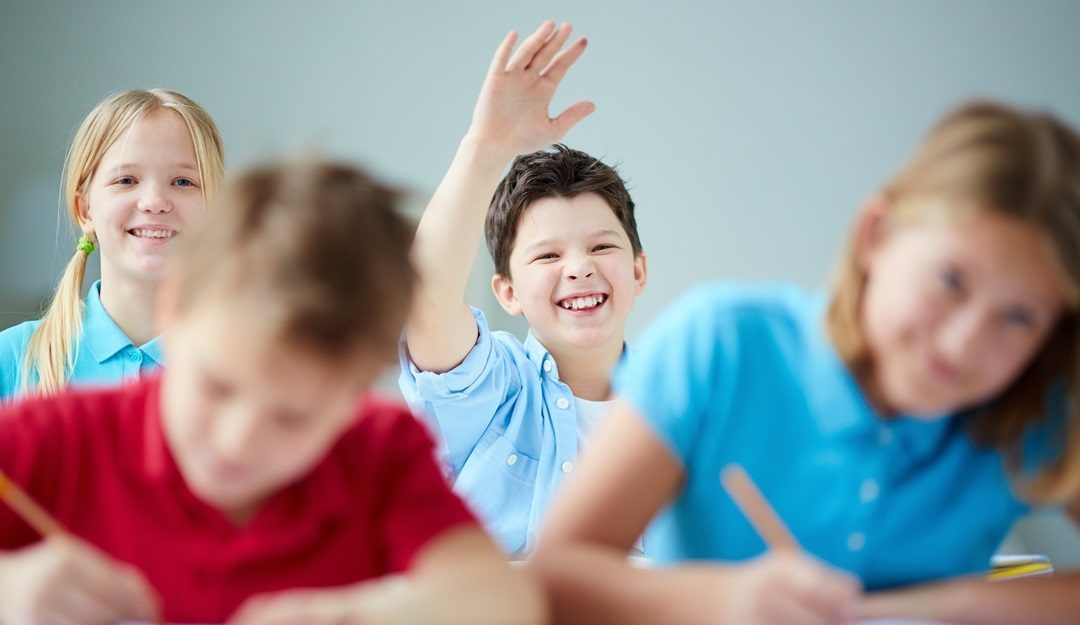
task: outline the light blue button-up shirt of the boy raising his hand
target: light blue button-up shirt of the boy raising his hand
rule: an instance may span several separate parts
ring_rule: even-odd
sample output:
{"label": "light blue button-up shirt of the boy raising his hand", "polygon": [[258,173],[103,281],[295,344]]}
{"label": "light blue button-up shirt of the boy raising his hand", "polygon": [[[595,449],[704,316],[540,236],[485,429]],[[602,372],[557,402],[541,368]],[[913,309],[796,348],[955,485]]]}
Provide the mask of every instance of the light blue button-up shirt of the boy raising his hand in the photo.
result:
{"label": "light blue button-up shirt of the boy raising his hand", "polygon": [[523,343],[473,315],[476,344],[449,371],[420,371],[401,350],[401,390],[440,439],[454,490],[507,553],[523,555],[577,462],[575,398],[531,334]]}

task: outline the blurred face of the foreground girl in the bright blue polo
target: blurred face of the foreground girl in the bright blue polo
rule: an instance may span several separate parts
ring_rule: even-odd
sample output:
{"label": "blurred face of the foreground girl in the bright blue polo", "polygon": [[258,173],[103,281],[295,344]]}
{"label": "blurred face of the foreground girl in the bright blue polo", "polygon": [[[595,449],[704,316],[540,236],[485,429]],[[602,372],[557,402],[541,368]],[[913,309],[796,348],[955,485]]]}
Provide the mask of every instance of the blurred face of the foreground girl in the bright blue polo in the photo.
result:
{"label": "blurred face of the foreground girl in the bright blue polo", "polygon": [[904,221],[867,213],[860,323],[872,399],[888,412],[934,417],[1003,392],[1066,307],[1049,237],[987,209]]}

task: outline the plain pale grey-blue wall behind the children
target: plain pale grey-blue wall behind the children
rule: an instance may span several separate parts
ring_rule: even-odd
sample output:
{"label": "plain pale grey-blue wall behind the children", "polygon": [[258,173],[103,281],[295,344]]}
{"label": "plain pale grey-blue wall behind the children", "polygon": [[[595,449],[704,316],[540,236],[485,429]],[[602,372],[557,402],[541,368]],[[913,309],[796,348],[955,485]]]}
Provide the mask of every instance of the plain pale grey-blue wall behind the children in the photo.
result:
{"label": "plain pale grey-blue wall behind the children", "polygon": [[[639,207],[650,276],[631,336],[696,282],[822,285],[860,201],[964,98],[1080,124],[1074,0],[5,0],[0,327],[36,313],[73,249],[57,220],[62,162],[106,93],[194,97],[232,168],[320,149],[410,187],[422,205],[495,45],[548,17],[591,41],[556,109],[590,98],[597,111],[566,140],[620,164]],[[519,331],[489,296],[489,273],[477,268],[473,299]],[[1070,528],[1031,525],[1035,543],[1080,563]]]}

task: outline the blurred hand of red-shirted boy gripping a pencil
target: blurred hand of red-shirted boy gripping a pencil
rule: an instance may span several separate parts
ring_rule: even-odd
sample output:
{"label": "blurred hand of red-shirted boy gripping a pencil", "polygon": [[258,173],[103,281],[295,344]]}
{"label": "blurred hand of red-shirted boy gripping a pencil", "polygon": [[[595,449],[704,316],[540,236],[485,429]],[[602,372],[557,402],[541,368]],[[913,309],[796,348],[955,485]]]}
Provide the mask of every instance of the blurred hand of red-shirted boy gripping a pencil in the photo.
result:
{"label": "blurred hand of red-shirted boy gripping a pencil", "polygon": [[0,557],[0,623],[157,619],[156,595],[143,575],[78,540],[53,538]]}

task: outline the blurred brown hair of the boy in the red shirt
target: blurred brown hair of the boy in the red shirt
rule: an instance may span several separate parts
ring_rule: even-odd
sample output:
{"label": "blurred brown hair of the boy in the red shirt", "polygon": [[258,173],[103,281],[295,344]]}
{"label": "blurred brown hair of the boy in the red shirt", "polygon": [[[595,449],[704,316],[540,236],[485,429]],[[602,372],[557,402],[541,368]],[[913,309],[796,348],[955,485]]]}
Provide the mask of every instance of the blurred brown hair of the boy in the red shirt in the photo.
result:
{"label": "blurred brown hair of the boy in the red shirt", "polygon": [[399,193],[329,162],[281,163],[229,184],[185,237],[177,304],[248,298],[291,345],[336,362],[392,358],[413,296],[414,227]]}

